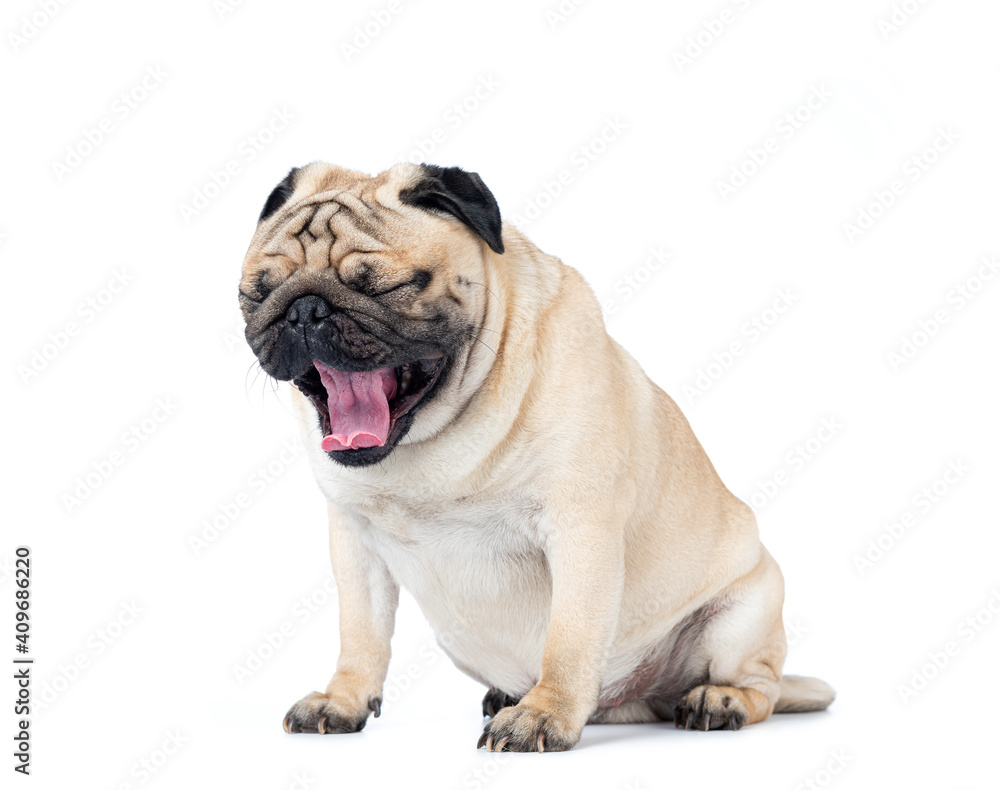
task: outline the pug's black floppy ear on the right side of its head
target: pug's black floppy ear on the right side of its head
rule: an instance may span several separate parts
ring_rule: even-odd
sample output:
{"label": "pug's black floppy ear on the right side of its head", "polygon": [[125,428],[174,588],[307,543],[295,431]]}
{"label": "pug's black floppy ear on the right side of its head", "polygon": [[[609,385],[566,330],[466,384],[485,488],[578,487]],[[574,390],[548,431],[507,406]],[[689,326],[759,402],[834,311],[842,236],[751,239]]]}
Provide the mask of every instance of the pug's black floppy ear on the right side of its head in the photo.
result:
{"label": "pug's black floppy ear on the right side of its head", "polygon": [[479,173],[460,167],[420,167],[420,180],[399,193],[400,202],[451,214],[474,230],[493,252],[502,254],[500,207]]}

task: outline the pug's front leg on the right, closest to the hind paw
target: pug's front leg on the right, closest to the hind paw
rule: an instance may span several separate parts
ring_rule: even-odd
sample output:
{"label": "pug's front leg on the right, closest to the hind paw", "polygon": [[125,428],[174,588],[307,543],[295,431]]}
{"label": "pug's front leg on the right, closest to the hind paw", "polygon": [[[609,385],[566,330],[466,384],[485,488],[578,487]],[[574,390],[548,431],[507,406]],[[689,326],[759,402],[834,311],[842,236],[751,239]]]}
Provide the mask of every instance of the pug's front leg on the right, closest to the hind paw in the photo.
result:
{"label": "pug's front leg on the right, closest to the hind paw", "polygon": [[[564,511],[571,512],[571,511]],[[610,520],[550,514],[546,557],[552,607],[538,683],[499,711],[479,746],[493,751],[565,751],[597,707],[624,581],[624,530]]]}

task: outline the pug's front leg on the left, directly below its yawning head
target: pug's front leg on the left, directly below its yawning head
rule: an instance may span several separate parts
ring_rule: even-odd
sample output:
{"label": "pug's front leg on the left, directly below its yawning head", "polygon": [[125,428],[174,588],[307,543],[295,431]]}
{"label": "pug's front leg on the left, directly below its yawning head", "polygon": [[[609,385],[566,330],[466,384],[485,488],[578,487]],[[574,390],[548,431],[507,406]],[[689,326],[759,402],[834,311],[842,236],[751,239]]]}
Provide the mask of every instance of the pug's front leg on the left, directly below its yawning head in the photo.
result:
{"label": "pug's front leg on the left, directly below its yawning head", "polygon": [[285,716],[286,732],[357,732],[380,713],[399,587],[333,506],[330,560],[340,603],[340,657],[326,691],[314,691]]}

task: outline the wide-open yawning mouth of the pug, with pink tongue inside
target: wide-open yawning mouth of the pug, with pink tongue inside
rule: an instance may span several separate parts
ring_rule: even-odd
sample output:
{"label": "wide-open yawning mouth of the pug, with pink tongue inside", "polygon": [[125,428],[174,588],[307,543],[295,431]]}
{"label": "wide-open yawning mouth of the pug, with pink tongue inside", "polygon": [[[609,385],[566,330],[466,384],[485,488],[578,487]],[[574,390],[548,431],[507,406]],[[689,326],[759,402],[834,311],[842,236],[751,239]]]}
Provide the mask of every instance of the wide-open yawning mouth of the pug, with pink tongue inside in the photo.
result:
{"label": "wide-open yawning mouth of the pug, with pink tongue inside", "polygon": [[369,455],[364,451],[391,447],[400,438],[409,422],[403,418],[427,398],[444,366],[444,357],[438,357],[392,368],[347,371],[313,360],[309,370],[292,383],[319,413],[324,450]]}

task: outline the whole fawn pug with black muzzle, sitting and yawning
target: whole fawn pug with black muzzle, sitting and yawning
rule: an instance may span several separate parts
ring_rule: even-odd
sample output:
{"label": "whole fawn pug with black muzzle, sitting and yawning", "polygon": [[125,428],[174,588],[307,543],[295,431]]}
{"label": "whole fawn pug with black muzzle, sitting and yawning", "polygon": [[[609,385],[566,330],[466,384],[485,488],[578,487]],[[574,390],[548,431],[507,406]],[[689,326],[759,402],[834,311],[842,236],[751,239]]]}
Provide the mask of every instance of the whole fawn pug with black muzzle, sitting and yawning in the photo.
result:
{"label": "whole fawn pug with black muzzle, sitting and yawning", "polygon": [[504,224],[476,173],[293,169],[239,301],[329,501],[340,656],[286,732],[379,715],[400,587],[488,688],[488,750],[831,703],[782,675],[783,581],[753,512],[583,277]]}

